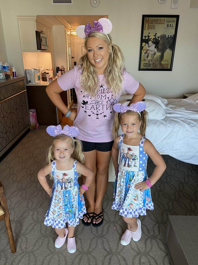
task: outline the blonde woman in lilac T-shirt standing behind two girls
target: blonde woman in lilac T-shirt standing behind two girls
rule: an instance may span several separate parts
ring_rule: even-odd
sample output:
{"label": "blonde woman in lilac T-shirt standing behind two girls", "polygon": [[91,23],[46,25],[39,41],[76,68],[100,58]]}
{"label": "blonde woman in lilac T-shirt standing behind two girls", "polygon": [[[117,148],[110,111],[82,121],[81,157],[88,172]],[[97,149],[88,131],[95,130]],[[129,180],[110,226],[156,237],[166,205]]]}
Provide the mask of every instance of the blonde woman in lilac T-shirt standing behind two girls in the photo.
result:
{"label": "blonde woman in lilac T-shirt standing behind two girls", "polygon": [[[85,38],[87,53],[80,58],[78,66],[46,89],[54,105],[80,129],[77,139],[83,145],[84,165],[96,175],[96,181],[93,179],[86,191],[88,207],[82,219],[85,226],[92,224],[96,227],[103,223],[102,200],[108,184],[114,143],[111,133],[115,115],[113,105],[123,91],[134,95],[129,104],[141,101],[145,95],[144,87],[126,72],[121,49],[107,35],[111,29],[112,24],[106,18],[95,20],[93,27],[88,23],[79,26],[76,32],[79,37]],[[73,87],[78,100],[77,113],[70,111],[59,95]]]}

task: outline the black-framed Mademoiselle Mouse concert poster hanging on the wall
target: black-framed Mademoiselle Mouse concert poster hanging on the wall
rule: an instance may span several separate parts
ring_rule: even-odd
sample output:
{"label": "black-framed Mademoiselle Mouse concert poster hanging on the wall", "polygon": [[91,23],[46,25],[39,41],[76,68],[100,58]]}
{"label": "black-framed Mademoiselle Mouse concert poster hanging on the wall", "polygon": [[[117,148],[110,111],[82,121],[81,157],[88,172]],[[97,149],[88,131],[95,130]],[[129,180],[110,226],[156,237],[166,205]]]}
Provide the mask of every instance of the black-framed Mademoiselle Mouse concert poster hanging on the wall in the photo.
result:
{"label": "black-framed Mademoiselle Mouse concert poster hanging on the wall", "polygon": [[172,71],[179,15],[142,15],[138,70]]}

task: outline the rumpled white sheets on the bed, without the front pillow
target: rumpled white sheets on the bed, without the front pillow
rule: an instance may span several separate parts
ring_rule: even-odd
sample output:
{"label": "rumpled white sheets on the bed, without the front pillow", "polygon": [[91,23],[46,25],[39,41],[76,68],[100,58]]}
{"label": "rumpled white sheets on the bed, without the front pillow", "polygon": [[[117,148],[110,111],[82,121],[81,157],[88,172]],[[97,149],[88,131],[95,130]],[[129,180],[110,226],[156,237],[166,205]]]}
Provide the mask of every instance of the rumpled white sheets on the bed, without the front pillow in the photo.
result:
{"label": "rumpled white sheets on the bed, without the front pillow", "polygon": [[146,137],[158,152],[198,165],[198,105],[183,99],[167,101],[166,117],[148,120]]}

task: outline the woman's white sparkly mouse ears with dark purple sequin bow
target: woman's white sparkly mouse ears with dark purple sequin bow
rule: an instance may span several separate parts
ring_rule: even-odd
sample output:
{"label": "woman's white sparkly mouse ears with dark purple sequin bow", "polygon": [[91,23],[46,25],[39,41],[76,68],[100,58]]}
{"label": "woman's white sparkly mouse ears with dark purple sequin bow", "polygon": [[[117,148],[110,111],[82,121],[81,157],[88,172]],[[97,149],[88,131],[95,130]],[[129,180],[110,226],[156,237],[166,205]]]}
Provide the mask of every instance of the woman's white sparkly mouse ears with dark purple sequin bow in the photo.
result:
{"label": "woman's white sparkly mouse ears with dark purple sequin bow", "polygon": [[103,32],[109,34],[112,30],[111,21],[108,18],[102,17],[98,21],[94,20],[93,27],[89,23],[81,25],[76,28],[76,34],[78,37],[85,39],[92,31]]}

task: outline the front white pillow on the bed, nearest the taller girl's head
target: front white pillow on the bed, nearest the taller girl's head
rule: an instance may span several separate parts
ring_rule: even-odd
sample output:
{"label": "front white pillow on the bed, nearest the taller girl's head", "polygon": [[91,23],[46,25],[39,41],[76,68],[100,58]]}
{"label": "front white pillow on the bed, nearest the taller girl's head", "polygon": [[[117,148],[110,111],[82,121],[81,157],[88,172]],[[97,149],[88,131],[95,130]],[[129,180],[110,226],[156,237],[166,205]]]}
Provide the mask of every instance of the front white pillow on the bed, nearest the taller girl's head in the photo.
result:
{"label": "front white pillow on the bed, nearest the taller girl's head", "polygon": [[[163,118],[166,117],[166,113],[164,109],[156,101],[145,99],[144,102],[147,105],[146,111],[148,112],[149,120],[162,120]],[[129,101],[123,100],[123,101],[119,101],[119,103],[128,105]]]}

